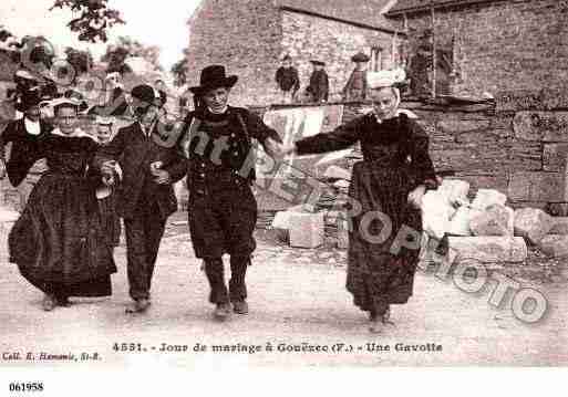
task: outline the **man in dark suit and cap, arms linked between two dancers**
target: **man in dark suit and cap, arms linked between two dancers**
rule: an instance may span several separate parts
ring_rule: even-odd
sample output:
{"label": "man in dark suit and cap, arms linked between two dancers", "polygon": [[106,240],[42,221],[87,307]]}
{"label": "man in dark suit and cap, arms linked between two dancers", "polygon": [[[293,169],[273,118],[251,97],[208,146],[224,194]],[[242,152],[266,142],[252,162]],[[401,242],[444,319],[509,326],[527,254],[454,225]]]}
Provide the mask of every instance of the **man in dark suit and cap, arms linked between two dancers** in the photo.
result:
{"label": "man in dark suit and cap, arms linked between two dancers", "polygon": [[163,134],[158,121],[159,98],[149,85],[132,90],[136,122],[121,128],[114,139],[100,149],[96,164],[112,185],[115,161],[123,177],[116,198],[116,211],[124,218],[130,294],[134,300],[127,313],[149,306],[152,275],[166,219],[176,211],[172,184],[182,179],[187,165],[173,147],[161,146],[155,134]]}

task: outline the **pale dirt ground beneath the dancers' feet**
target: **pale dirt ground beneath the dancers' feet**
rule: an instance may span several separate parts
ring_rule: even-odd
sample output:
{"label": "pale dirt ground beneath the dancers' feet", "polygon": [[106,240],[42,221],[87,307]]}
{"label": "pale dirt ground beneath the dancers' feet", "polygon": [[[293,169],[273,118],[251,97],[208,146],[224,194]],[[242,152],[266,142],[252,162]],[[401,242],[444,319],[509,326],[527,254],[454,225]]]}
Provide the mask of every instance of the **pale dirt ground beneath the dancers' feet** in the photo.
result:
{"label": "pale dirt ground beneath the dancers' feet", "polygon": [[[550,273],[538,264],[525,271],[502,267],[547,297],[548,312],[536,324],[515,318],[510,302],[492,306],[492,283],[471,294],[451,278],[440,280],[421,270],[409,304],[393,307],[395,325],[373,335],[344,289],[345,251],[291,249],[259,231],[247,276],[250,313],[220,323],[211,317],[207,282],[184,219],[183,213],[171,219],[153,281],[153,305],[144,315],[124,313],[128,295],[123,245],[115,251],[118,273],[112,297],[75,300],[71,307],[50,313],[40,307],[41,293],[1,254],[0,366],[568,365],[566,268]],[[162,352],[163,344],[176,347]],[[42,352],[73,357],[41,359]],[[20,353],[19,359],[13,353]],[[25,359],[28,353],[35,361]],[[89,357],[82,359],[82,353]]]}

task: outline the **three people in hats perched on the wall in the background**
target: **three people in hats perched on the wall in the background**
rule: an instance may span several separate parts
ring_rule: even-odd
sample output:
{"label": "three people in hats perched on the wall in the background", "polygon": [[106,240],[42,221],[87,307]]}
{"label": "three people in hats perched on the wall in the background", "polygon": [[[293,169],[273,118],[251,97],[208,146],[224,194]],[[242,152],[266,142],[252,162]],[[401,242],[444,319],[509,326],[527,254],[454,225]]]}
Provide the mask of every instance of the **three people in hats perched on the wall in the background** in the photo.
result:
{"label": "three people in hats perched on the wall in the background", "polygon": [[[351,58],[355,64],[354,70],[348,79],[341,94],[343,101],[363,101],[366,95],[366,64],[371,59],[363,52],[359,52]],[[321,103],[328,102],[330,95],[329,77],[324,70],[326,63],[319,60],[312,60],[313,65],[309,84],[302,97],[299,97],[300,79],[298,70],[292,65],[290,55],[285,55],[282,65],[276,71],[275,80],[280,92],[280,102],[291,104],[295,102]]]}

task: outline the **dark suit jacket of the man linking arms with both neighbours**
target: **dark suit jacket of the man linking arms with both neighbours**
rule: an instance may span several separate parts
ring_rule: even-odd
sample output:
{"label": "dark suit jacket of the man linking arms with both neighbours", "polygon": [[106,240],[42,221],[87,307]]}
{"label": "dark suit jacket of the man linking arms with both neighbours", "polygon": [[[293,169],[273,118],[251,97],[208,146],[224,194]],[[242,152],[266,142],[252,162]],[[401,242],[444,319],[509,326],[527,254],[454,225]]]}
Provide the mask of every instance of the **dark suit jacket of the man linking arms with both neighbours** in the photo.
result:
{"label": "dark suit jacket of the man linking arms with both neighbours", "polygon": [[117,160],[123,171],[116,198],[118,216],[133,218],[141,195],[157,201],[163,218],[177,210],[172,185],[155,184],[149,170],[151,163],[163,161],[163,169],[169,173],[172,182],[182,179],[187,173],[187,163],[176,149],[156,145],[136,122],[121,128],[114,139],[99,150],[96,167],[100,169],[109,159]]}

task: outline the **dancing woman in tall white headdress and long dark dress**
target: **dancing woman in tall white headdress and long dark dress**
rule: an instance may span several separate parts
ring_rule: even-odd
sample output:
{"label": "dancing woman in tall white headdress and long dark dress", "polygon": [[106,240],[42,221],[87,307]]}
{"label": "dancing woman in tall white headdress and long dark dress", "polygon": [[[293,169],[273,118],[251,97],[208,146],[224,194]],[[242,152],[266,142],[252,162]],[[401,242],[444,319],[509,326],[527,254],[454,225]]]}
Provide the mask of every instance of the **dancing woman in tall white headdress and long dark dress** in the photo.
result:
{"label": "dancing woman in tall white headdress and long dark dress", "polygon": [[420,205],[426,189],[436,187],[428,137],[411,112],[399,108],[395,84],[402,81],[402,71],[369,72],[373,112],[281,148],[282,155],[308,155],[361,144],[363,160],[354,164],[349,188],[347,289],[354,304],[369,312],[372,332],[392,324],[391,304],[406,303],[412,295]]}

